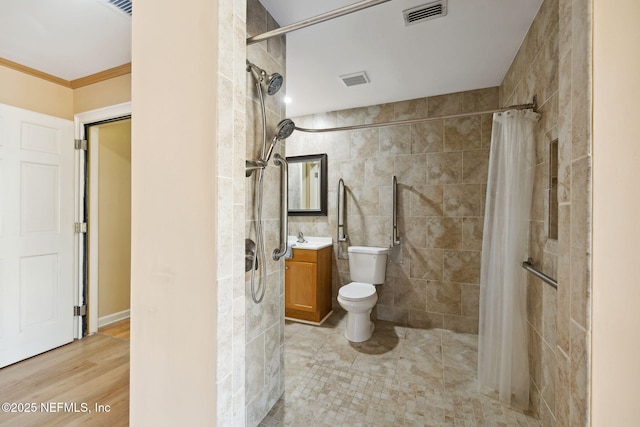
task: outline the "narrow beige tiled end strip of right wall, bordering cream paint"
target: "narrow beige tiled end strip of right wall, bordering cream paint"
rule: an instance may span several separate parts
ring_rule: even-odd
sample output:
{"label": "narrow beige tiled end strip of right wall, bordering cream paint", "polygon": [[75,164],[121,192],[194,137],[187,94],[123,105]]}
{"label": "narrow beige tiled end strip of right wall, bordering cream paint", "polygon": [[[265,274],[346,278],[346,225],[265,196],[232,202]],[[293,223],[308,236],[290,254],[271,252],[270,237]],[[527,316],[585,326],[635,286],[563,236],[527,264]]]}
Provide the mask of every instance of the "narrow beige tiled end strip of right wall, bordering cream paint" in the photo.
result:
{"label": "narrow beige tiled end strip of right wall, bordering cream paint", "polygon": [[[560,0],[558,424],[589,425],[592,1]],[[560,231],[562,230],[562,231]]]}

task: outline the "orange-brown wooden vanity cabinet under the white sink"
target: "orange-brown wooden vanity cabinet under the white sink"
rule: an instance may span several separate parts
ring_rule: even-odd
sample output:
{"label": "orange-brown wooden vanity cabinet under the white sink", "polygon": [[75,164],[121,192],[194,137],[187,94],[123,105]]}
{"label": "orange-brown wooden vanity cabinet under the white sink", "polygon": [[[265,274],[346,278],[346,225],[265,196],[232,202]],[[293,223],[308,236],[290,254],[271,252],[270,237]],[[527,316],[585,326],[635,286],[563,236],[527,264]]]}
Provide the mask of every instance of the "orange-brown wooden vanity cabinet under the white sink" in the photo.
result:
{"label": "orange-brown wooden vanity cabinet under the white sink", "polygon": [[331,246],[293,248],[285,260],[284,309],[292,320],[320,323],[331,312]]}

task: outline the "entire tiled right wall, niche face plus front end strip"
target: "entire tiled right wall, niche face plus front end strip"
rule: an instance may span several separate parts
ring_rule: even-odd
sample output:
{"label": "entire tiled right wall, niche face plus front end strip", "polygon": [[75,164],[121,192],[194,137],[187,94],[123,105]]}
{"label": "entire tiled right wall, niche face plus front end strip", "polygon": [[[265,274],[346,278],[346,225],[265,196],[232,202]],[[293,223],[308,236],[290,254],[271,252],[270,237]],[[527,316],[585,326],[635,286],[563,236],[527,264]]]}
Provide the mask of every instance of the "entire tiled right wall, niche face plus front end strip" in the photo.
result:
{"label": "entire tiled right wall, niche face plus front end strip", "polygon": [[[529,276],[532,409],[545,426],[588,425],[591,313],[591,0],[545,0],[501,87],[501,105],[538,95],[541,120]],[[558,240],[548,236],[549,143],[558,139]]]}

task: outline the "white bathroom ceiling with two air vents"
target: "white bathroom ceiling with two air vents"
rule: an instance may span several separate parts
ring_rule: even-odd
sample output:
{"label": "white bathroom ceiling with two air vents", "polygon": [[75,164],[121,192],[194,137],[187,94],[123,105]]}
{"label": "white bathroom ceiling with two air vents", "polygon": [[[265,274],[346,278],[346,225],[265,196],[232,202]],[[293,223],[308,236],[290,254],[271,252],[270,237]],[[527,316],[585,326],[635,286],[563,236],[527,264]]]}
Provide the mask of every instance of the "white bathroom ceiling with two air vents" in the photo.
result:
{"label": "white bathroom ceiling with two air vents", "polygon": [[[498,86],[542,0],[448,0],[447,15],[405,26],[392,0],[287,34],[290,117]],[[285,26],[355,0],[260,0]],[[277,70],[268,70],[274,72]],[[341,75],[370,83],[346,87]]]}

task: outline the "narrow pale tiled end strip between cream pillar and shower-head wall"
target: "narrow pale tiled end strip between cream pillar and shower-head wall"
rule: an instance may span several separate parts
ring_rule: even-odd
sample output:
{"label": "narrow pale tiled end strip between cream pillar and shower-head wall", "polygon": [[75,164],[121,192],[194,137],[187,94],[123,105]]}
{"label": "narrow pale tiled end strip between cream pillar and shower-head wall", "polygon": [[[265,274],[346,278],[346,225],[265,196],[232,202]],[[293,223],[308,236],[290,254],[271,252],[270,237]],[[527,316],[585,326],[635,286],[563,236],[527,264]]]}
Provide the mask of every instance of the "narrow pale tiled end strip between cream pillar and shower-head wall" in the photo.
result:
{"label": "narrow pale tiled end strip between cream pillar and shower-head wall", "polygon": [[217,420],[237,426],[245,425],[245,16],[245,0],[218,0]]}

